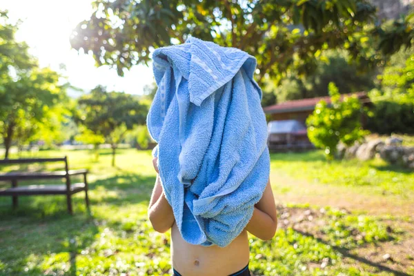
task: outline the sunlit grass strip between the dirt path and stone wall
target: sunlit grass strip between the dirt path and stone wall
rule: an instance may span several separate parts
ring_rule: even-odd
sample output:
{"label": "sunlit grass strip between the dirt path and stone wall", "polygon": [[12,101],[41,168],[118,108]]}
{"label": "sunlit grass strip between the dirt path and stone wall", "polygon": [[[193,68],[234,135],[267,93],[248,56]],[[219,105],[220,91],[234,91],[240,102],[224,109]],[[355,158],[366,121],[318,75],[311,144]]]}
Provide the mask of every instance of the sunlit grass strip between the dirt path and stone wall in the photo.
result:
{"label": "sunlit grass strip between the dirt path and stone wall", "polygon": [[391,166],[381,159],[326,161],[321,150],[271,155],[272,172],[309,182],[348,186],[358,193],[414,196],[414,171]]}

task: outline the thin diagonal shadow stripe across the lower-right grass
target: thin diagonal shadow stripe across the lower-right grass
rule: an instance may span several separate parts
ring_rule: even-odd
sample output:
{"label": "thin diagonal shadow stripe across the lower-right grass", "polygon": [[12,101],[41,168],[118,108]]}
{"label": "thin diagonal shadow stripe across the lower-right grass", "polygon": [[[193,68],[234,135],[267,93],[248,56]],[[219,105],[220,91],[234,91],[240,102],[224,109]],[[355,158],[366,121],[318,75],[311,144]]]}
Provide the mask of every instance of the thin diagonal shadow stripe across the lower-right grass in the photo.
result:
{"label": "thin diagonal shadow stripe across the lower-right grass", "polygon": [[366,259],[366,258],[361,257],[359,255],[350,253],[348,249],[342,248],[342,247],[339,247],[339,246],[335,246],[335,245],[333,245],[329,242],[326,242],[324,239],[321,239],[319,237],[315,237],[315,235],[313,235],[311,233],[308,233],[308,232],[305,232],[305,231],[302,231],[302,230],[297,230],[297,229],[293,229],[293,230],[295,230],[295,232],[299,233],[300,235],[304,235],[306,237],[312,237],[313,239],[316,239],[317,242],[320,242],[322,244],[326,244],[328,246],[331,246],[331,248],[333,248],[333,250],[336,250],[337,252],[341,253],[342,255],[344,255],[344,257],[354,259],[355,261],[362,262],[364,264],[367,264],[368,266],[373,266],[373,267],[381,270],[382,272],[393,273],[393,275],[395,275],[395,276],[410,276],[409,274],[404,273],[402,271],[394,270],[393,268],[389,268],[388,266],[384,266],[384,265],[382,265],[380,263],[377,263],[377,262],[372,262],[369,259]]}

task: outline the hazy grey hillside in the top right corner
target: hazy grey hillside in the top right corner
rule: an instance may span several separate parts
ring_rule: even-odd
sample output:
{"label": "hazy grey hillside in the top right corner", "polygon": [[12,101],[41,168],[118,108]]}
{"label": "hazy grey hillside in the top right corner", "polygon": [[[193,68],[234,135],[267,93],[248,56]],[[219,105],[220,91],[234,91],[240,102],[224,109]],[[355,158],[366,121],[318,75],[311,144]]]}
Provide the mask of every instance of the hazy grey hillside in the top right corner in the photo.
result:
{"label": "hazy grey hillside in the top right corner", "polygon": [[397,19],[413,8],[414,0],[369,0],[378,8],[380,19]]}

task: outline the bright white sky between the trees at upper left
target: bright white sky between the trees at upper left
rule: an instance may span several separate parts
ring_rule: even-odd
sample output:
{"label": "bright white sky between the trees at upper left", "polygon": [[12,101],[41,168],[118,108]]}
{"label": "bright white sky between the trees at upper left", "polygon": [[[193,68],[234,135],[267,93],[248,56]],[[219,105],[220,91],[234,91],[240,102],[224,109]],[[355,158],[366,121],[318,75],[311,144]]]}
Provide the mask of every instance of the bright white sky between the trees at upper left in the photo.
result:
{"label": "bright white sky between the trees at upper left", "polygon": [[[91,3],[91,0],[0,0],[0,9],[9,11],[11,21],[23,21],[16,39],[28,43],[40,66],[63,72],[72,86],[88,92],[100,84],[108,90],[141,94],[144,86],[153,82],[152,68],[135,66],[119,77],[115,69],[97,68],[92,56],[79,54],[70,47],[70,33],[77,23],[90,17]],[[60,63],[66,65],[65,71],[59,69]],[[70,94],[76,95],[73,91]]]}

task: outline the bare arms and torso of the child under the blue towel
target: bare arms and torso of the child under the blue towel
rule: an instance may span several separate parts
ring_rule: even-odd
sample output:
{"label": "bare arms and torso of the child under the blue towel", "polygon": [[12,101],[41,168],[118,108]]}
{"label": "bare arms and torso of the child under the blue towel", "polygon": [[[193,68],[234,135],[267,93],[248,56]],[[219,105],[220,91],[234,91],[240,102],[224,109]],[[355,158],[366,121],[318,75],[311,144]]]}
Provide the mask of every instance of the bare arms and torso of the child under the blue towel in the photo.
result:
{"label": "bare arms and torso of the child under the blue towel", "polygon": [[172,208],[161,186],[157,158],[152,160],[157,171],[157,180],[150,199],[148,217],[152,227],[159,233],[171,228],[171,259],[175,276],[226,276],[250,275],[248,270],[249,244],[247,232],[259,239],[272,239],[277,228],[277,212],[270,181],[262,199],[255,205],[253,217],[242,233],[228,246],[200,246],[188,244],[181,237]]}

